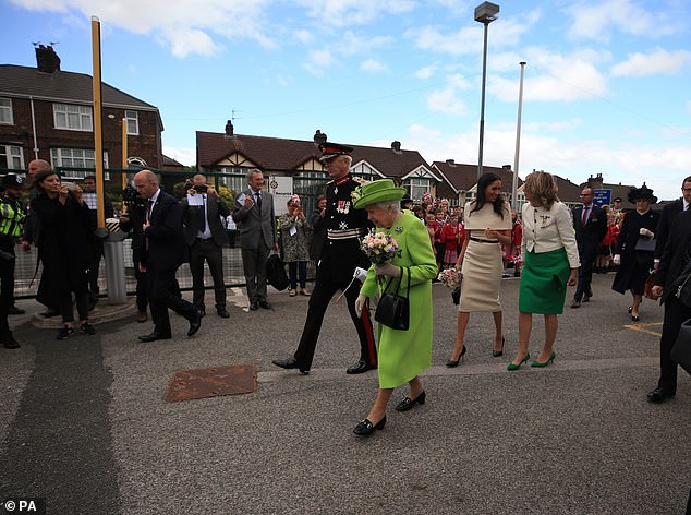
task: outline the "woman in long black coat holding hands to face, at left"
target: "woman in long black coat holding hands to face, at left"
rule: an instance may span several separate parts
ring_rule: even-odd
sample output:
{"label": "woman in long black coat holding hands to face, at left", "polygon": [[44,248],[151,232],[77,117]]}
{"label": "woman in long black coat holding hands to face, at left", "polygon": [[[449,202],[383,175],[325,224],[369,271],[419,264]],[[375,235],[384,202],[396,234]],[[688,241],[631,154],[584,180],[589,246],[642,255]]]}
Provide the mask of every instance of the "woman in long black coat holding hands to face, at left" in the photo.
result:
{"label": "woman in long black coat holding hands to face, at left", "polygon": [[[58,339],[74,334],[72,294],[82,333],[94,334],[94,327],[88,323],[89,208],[82,200],[82,190],[76,187],[69,191],[50,169],[38,172],[34,183],[38,195],[32,200],[32,213],[41,226],[38,259],[44,264],[39,290],[54,299],[60,309],[63,326]],[[44,284],[46,282],[48,284]]]}

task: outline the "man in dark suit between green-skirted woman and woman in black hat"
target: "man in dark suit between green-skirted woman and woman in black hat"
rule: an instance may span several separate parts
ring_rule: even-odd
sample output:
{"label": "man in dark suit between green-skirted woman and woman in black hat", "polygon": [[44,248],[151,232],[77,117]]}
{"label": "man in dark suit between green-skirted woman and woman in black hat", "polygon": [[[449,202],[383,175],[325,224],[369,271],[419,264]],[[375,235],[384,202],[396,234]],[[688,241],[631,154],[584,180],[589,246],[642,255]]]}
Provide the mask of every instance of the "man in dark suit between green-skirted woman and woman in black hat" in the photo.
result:
{"label": "man in dark suit between green-skirted woman and woman in black hat", "polygon": [[593,189],[583,188],[581,199],[583,199],[583,205],[573,209],[573,228],[575,242],[579,245],[581,273],[571,308],[579,308],[581,301],[587,302],[593,297],[591,289],[593,264],[599,251],[599,244],[607,233],[607,215],[602,207],[593,204]]}

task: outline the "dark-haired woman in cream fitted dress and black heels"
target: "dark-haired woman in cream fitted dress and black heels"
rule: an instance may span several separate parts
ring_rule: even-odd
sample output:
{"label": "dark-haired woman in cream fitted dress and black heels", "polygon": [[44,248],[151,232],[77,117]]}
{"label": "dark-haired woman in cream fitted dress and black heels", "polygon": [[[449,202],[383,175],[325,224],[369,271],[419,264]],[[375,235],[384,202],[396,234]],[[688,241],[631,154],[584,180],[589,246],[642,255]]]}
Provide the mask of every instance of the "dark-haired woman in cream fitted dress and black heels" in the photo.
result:
{"label": "dark-haired woman in cream fitted dress and black heels", "polygon": [[465,204],[466,238],[456,268],[463,274],[458,307],[456,347],[447,367],[457,367],[465,355],[463,337],[472,312],[490,312],[495,323],[492,356],[501,356],[501,245],[511,243],[511,214],[501,196],[501,178],[484,173],[477,181],[477,199]]}

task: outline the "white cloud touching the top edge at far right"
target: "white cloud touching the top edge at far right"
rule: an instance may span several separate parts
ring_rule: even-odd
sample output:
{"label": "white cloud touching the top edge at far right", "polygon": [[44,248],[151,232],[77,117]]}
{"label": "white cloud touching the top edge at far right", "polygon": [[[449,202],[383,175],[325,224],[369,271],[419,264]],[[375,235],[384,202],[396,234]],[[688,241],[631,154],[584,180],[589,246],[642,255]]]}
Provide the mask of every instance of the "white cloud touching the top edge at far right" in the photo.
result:
{"label": "white cloud touching the top edge at far right", "polygon": [[573,38],[608,41],[613,28],[635,36],[657,37],[674,34],[682,25],[664,9],[647,11],[631,0],[608,0],[598,4],[577,3],[565,10],[573,23],[568,35]]}

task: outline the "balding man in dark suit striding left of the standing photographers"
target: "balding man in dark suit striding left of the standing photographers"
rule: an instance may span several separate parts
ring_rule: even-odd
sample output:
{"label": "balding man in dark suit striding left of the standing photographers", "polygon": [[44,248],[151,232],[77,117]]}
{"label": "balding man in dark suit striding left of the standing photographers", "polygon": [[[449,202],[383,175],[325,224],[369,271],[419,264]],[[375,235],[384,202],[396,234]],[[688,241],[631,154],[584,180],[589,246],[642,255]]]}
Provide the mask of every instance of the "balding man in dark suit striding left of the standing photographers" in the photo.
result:
{"label": "balding man in dark suit striding left of the standing photographers", "polygon": [[190,321],[187,336],[192,336],[202,326],[202,312],[174,295],[175,271],[186,251],[182,233],[183,208],[174,196],[160,190],[158,178],[150,170],[142,170],[134,176],[134,185],[140,196],[147,200],[140,270],[147,275],[154,320],[154,332],[140,336],[140,342],[172,337],[168,309]]}

